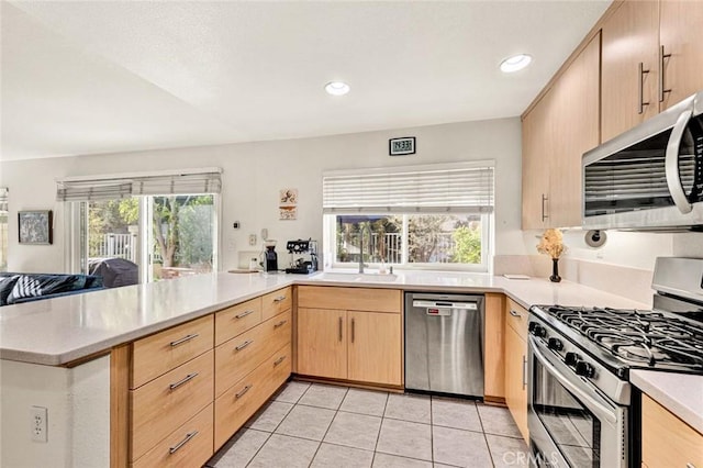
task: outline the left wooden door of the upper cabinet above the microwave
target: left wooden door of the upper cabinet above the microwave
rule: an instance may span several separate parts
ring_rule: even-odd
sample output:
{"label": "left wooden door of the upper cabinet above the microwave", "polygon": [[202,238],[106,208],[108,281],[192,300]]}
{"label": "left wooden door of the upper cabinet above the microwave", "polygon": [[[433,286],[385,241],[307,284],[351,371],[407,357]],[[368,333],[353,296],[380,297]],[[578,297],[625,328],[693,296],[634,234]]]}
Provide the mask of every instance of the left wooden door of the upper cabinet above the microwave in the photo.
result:
{"label": "left wooden door of the upper cabinet above the microwave", "polygon": [[605,20],[601,34],[605,142],[659,112],[659,2],[624,2]]}

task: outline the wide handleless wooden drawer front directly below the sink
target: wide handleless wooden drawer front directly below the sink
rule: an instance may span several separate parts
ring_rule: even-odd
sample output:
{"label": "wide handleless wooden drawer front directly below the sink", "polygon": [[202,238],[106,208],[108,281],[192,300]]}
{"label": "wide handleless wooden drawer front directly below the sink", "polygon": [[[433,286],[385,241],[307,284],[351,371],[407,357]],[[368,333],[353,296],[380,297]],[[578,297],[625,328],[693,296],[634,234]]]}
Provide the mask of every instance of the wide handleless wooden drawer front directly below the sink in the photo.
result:
{"label": "wide handleless wooden drawer front directly below the sink", "polygon": [[400,313],[401,303],[395,289],[298,287],[300,308]]}

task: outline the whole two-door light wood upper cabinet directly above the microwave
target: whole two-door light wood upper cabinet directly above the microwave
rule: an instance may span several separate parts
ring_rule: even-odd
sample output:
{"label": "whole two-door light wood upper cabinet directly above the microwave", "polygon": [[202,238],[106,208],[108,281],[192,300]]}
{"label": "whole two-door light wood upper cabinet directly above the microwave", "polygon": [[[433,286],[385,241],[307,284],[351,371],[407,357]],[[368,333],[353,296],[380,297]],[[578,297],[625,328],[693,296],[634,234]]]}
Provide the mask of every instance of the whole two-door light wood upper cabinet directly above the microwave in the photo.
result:
{"label": "whole two-door light wood upper cabinet directly above the microwave", "polygon": [[602,141],[703,89],[703,2],[626,0],[602,24]]}

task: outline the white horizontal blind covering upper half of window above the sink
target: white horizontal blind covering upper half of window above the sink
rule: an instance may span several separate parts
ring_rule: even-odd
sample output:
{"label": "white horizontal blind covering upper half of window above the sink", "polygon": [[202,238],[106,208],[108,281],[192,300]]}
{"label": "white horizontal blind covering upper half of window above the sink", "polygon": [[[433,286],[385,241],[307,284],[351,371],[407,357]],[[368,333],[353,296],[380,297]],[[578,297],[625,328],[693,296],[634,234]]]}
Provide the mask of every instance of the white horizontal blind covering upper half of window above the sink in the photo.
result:
{"label": "white horizontal blind covering upper half of window above the sink", "polygon": [[493,164],[415,166],[323,174],[325,213],[490,213]]}

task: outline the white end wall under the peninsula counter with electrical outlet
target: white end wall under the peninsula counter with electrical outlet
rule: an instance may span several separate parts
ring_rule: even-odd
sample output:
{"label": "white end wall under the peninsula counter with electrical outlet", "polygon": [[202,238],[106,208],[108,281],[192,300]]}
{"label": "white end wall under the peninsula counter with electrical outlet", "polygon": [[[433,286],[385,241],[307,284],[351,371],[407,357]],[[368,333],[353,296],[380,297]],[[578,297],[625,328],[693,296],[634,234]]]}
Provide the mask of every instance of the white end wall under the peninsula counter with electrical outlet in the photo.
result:
{"label": "white end wall under the peninsula counter with electrical outlet", "polygon": [[[0,360],[0,466],[110,465],[110,357],[70,369]],[[47,442],[31,438],[30,408],[47,411]]]}

